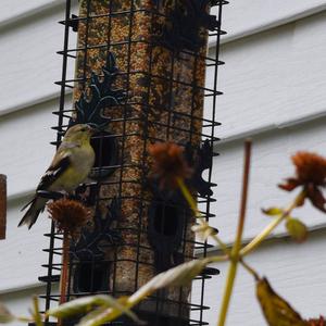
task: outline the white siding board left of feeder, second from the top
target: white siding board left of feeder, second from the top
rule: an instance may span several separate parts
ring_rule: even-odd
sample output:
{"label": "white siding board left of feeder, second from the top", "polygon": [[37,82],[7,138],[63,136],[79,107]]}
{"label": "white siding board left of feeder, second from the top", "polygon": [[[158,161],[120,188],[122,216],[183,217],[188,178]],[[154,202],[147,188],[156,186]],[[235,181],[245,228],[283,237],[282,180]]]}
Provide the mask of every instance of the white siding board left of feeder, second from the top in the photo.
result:
{"label": "white siding board left of feeder, second from the top", "polygon": [[[0,5],[1,9],[1,5]],[[64,11],[46,12],[17,21],[10,28],[0,28],[0,116],[59,96],[64,26],[58,24]],[[76,35],[72,34],[71,45]],[[68,61],[70,77],[74,76],[74,62]]]}

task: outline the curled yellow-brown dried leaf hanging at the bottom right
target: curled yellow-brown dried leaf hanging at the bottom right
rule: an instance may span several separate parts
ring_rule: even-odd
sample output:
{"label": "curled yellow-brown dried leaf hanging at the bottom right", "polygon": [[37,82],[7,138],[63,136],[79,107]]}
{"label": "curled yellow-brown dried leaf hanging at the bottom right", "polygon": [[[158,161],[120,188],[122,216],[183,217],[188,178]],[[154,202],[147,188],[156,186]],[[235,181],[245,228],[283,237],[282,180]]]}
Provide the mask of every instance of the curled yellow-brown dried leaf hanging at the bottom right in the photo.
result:
{"label": "curled yellow-brown dried leaf hanging at the bottom right", "polygon": [[290,304],[273,290],[266,278],[258,280],[256,297],[269,326],[308,326]]}

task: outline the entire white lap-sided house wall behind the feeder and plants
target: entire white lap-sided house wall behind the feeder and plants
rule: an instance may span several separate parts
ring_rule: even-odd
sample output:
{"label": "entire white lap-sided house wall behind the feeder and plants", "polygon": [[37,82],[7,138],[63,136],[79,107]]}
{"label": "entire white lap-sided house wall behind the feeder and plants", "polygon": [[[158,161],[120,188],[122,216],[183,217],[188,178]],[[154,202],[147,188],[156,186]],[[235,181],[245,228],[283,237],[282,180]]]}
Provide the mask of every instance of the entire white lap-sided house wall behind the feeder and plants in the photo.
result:
{"label": "entire white lap-sided house wall behind the feeder and plants", "polygon": [[[40,291],[37,277],[47,262],[46,216],[28,233],[17,229],[20,208],[34,190],[53,154],[50,129],[57,117],[61,77],[64,0],[0,1],[0,173],[9,181],[8,239],[1,241],[0,300],[12,310],[27,312],[29,297]],[[77,1],[74,1],[77,13]],[[242,140],[254,139],[251,188],[244,241],[264,225],[260,208],[286,204],[292,195],[277,189],[281,178],[293,173],[289,155],[299,149],[326,154],[326,0],[235,0],[224,8],[216,118],[221,156],[214,161],[217,202],[212,224],[228,243],[237,223],[242,166]],[[71,43],[75,41],[72,34]],[[212,53],[213,53],[213,45]],[[72,76],[73,61],[68,66]],[[212,83],[208,74],[208,83]],[[210,80],[211,79],[211,80]],[[210,111],[210,102],[206,102]],[[325,223],[322,213],[308,205],[298,210],[311,229],[311,239],[298,247],[275,238],[248,259],[304,316],[326,314]],[[277,238],[276,238],[277,237]],[[324,261],[323,261],[324,260]],[[5,263],[4,263],[5,262]],[[215,325],[222,276],[208,283],[206,319]],[[227,325],[264,325],[255,303],[252,279],[241,271]],[[29,289],[30,288],[30,289]],[[28,290],[26,290],[28,289]],[[193,291],[193,297],[197,292]]]}

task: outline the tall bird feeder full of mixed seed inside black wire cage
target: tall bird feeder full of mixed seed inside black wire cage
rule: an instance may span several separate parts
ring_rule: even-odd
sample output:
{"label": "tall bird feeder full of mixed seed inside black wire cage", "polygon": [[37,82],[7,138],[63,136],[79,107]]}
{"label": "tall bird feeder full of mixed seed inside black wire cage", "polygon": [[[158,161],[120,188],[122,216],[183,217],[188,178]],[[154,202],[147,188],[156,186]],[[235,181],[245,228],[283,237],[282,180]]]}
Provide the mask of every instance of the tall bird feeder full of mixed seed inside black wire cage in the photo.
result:
{"label": "tall bird feeder full of mixed seed inside black wire cage", "polygon": [[[195,218],[178,191],[164,190],[149,178],[148,148],[174,141],[185,148],[193,174],[187,179],[209,220],[212,198],[217,67],[223,0],[80,0],[73,14],[66,0],[58,138],[73,124],[99,128],[92,138],[96,163],[91,181],[79,191],[92,208],[93,222],[70,248],[66,300],[87,294],[128,296],[160,272],[206,254],[190,227]],[[214,7],[216,15],[209,13]],[[77,33],[77,45],[70,36]],[[214,55],[206,52],[214,41]],[[75,76],[70,78],[70,65]],[[211,88],[205,71],[211,70]],[[73,100],[73,108],[71,104]],[[204,113],[204,99],[208,112]],[[203,173],[205,176],[203,177]],[[59,301],[62,235],[51,231],[46,276],[46,310]],[[150,325],[208,325],[203,321],[206,268],[200,302],[191,286],[159,291],[136,312]],[[197,311],[192,316],[191,311]],[[49,322],[48,322],[49,323]],[[51,323],[49,323],[50,325]],[[66,325],[74,325],[67,322]],[[133,325],[121,318],[110,325]]]}

